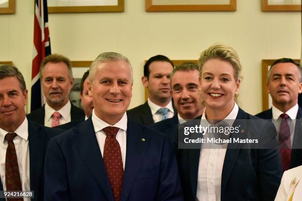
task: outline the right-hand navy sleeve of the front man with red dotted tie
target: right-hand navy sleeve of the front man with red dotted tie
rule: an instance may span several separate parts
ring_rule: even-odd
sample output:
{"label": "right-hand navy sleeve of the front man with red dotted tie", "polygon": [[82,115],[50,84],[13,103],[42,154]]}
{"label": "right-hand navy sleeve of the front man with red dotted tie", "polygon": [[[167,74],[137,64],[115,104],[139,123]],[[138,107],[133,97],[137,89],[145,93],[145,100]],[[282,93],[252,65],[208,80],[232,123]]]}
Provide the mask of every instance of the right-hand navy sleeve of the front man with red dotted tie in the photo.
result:
{"label": "right-hand navy sleeve of the front man with red dotted tie", "polygon": [[165,136],[156,201],[183,201],[179,171],[171,142]]}

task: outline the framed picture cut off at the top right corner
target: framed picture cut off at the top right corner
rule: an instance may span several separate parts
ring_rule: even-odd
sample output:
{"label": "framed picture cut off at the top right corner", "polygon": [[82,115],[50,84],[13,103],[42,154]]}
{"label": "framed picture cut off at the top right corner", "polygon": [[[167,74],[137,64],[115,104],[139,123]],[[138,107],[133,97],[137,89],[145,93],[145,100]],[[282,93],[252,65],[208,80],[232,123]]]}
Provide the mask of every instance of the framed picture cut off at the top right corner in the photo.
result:
{"label": "framed picture cut off at the top right corner", "polygon": [[262,0],[262,11],[301,12],[301,0]]}

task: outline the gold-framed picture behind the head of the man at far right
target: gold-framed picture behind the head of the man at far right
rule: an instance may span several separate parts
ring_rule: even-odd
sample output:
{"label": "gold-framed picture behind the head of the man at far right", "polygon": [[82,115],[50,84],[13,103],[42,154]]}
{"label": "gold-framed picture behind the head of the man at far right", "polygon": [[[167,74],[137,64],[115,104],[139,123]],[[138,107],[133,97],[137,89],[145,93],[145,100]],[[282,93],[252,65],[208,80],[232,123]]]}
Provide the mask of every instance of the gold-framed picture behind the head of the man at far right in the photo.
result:
{"label": "gold-framed picture behind the head of the man at far right", "polygon": [[[267,83],[267,72],[277,59],[265,59],[262,60],[262,110],[267,110],[272,106],[272,100],[266,90],[266,83]],[[299,59],[295,59],[296,62],[300,63]]]}

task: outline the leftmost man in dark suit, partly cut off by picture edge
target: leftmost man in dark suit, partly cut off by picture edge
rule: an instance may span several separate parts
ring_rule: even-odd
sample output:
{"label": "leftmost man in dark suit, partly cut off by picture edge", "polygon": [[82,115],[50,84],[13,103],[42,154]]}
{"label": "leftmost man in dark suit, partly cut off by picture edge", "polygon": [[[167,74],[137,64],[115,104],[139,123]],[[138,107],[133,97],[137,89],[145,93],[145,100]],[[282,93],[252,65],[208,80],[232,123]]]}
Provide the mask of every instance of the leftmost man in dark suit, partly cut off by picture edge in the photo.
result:
{"label": "leftmost man in dark suit, partly cut off by picture edge", "polygon": [[34,191],[32,201],[43,201],[46,147],[62,130],[27,120],[27,89],[18,68],[0,65],[0,86],[0,192]]}

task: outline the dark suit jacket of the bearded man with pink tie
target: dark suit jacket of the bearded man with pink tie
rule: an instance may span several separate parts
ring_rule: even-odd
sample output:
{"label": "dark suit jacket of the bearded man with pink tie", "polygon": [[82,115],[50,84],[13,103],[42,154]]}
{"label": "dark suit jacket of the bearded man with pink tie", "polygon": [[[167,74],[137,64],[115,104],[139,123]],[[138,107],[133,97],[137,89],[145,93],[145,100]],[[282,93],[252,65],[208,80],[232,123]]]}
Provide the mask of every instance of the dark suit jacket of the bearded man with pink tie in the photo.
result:
{"label": "dark suit jacket of the bearded man with pink tie", "polygon": [[[26,117],[31,121],[34,121],[40,125],[44,125],[45,104],[42,107],[26,115]],[[75,121],[83,117],[85,118],[84,110],[76,107],[71,103],[70,117],[71,117],[71,121]]]}

